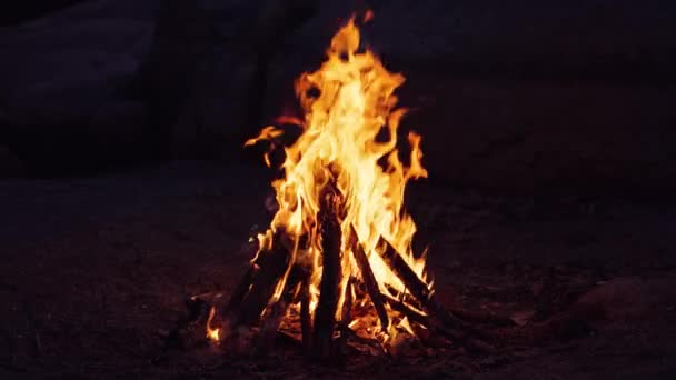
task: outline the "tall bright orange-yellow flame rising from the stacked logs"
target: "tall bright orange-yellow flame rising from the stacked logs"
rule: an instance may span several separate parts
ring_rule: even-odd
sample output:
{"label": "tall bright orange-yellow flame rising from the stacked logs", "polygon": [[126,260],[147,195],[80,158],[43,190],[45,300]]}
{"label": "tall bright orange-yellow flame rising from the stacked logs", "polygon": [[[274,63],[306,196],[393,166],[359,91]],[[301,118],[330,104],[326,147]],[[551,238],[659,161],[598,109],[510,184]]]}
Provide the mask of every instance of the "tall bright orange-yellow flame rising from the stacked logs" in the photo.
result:
{"label": "tall bright orange-yellow flame rising from the stacked logs", "polygon": [[[371,17],[372,13],[367,13],[366,21]],[[382,239],[426,281],[425,256],[416,257],[411,249],[416,223],[402,208],[407,182],[427,177],[421,163],[420,136],[408,134],[408,164],[401,161],[397,148],[398,127],[406,109],[396,108],[398,99],[394,92],[405,78],[389,72],[368,49],[360,52],[359,43],[359,29],[352,18],[332,38],[321,67],[296,80],[304,117],[278,119],[294,121],[302,131],[285,148],[286,160],[281,166],[285,176],[272,182],[279,210],[270,230],[258,238],[261,250],[272,244],[272,232],[280,228],[296,239],[296,260],[306,260],[311,269],[311,310],[317,306],[321,278],[318,212],[322,189],[329,182],[335,183],[341,199],[340,210],[336,210],[342,233],[340,289],[345,289],[350,277],[360,277],[349,254],[352,228],[381,292],[392,296],[406,292],[404,283],[380,257],[385,250]],[[275,139],[282,133],[282,129],[269,126],[246,146],[261,140],[275,146]],[[269,164],[267,157],[266,162]],[[306,237],[307,243],[300,243],[300,237]],[[388,312],[390,318],[395,317],[394,311]],[[401,316],[398,320],[404,320],[404,327],[410,330]]]}

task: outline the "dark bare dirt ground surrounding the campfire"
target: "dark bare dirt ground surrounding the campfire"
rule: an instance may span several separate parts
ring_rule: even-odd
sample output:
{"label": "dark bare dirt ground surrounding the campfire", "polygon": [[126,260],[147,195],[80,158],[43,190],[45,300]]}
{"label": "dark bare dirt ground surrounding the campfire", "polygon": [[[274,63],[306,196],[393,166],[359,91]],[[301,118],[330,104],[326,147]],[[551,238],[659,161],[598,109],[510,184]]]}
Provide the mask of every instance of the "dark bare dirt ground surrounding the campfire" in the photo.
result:
{"label": "dark bare dirt ground surrounding the campfire", "polygon": [[354,357],[327,368],[292,349],[161,354],[189,294],[230,289],[266,227],[261,169],[176,162],[70,180],[0,182],[0,377],[670,378],[676,376],[676,207],[649,199],[503,198],[411,189],[447,304],[489,310],[544,340],[498,352]]}

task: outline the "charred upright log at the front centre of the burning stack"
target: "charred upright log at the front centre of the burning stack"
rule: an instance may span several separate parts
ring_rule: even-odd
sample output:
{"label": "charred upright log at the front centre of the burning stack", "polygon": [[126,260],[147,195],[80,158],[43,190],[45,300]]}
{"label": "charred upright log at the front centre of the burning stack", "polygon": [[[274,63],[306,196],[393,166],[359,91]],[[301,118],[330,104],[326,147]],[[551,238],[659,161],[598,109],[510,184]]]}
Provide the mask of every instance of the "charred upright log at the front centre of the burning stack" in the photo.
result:
{"label": "charred upright log at the front centre of the burning stack", "polygon": [[312,331],[312,352],[321,360],[331,357],[336,310],[338,308],[338,288],[340,284],[340,246],[341,231],[337,218],[339,196],[332,183],[322,190],[319,216],[321,233],[321,282],[319,283],[319,302],[315,310]]}

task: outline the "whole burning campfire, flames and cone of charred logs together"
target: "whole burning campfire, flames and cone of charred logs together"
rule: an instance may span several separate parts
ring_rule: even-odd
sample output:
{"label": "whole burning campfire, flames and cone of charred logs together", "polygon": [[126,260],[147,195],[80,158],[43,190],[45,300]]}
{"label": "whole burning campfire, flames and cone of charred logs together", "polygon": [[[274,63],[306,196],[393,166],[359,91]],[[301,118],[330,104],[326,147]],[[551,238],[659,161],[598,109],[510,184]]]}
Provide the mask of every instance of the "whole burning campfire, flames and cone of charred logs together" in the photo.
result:
{"label": "whole burning campfire, flames and cone of charred logs together", "polygon": [[[405,189],[427,171],[419,134],[408,133],[410,153],[400,157],[406,110],[395,90],[404,81],[360,50],[355,18],[332,38],[321,67],[297,79],[305,114],[279,120],[301,134],[282,147],[276,213],[228,301],[218,306],[222,293],[191,298],[191,326],[203,327],[201,337],[241,352],[268,349],[284,333],[322,359],[350,344],[391,353],[438,337],[490,348],[436,301],[426,252],[411,248],[416,223],[404,208]],[[267,127],[246,146],[279,149],[282,133]],[[271,166],[269,154],[265,160]]]}

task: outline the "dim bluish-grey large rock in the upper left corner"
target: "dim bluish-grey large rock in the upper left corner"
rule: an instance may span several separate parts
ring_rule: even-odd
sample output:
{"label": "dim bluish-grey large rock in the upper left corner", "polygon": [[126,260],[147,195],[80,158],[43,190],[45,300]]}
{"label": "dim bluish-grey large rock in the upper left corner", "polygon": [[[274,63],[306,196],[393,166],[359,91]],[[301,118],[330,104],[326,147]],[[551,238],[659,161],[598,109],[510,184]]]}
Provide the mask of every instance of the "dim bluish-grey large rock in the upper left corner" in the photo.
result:
{"label": "dim bluish-grey large rock in the upper left corner", "polygon": [[[128,139],[129,133],[110,133],[101,114],[133,101],[130,90],[150,46],[158,4],[159,0],[87,1],[3,30],[0,123],[6,127],[0,141],[32,169],[57,168],[60,161],[86,163],[91,152],[101,153],[93,148],[100,140],[127,144],[115,139]],[[140,120],[145,122],[133,122]],[[133,128],[136,132],[146,127]],[[110,160],[125,156],[123,149],[108,152],[113,154]]]}

